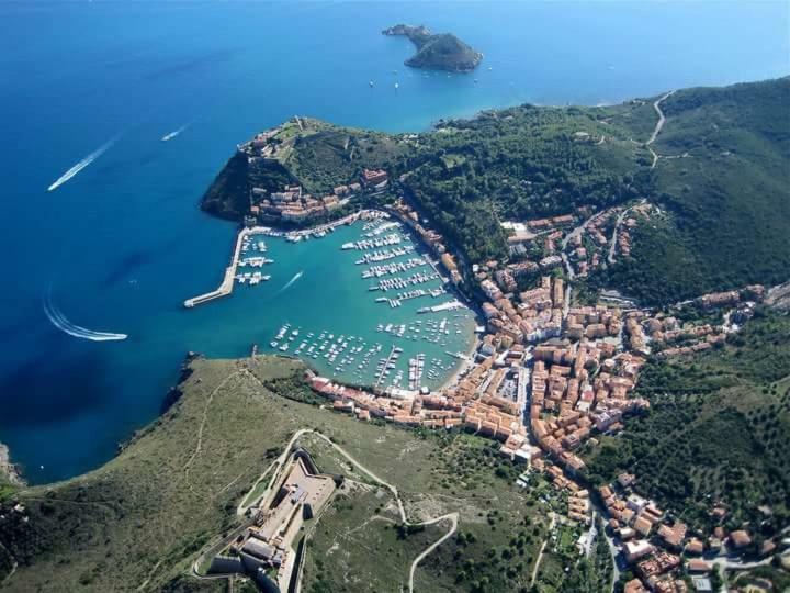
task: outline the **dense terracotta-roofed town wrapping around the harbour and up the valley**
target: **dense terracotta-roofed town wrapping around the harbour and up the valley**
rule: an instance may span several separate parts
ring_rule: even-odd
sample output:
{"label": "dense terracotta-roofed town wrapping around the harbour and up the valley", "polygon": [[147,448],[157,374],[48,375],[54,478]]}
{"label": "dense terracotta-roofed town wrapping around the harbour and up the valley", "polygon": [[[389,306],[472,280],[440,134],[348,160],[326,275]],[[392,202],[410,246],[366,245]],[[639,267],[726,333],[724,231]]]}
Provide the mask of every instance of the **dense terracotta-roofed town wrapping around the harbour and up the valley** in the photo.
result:
{"label": "dense terracotta-roofed town wrapping around the harbour and up the valley", "polygon": [[[268,134],[244,145],[249,158],[273,157],[276,148]],[[253,189],[247,222],[312,220],[362,193],[391,191],[388,183],[386,171],[364,169],[358,181],[320,199],[294,186],[269,195]],[[634,394],[648,356],[684,356],[723,344],[765,296],[764,287],[749,286],[676,303],[668,312],[639,307],[612,291],[601,292],[596,303],[574,299],[575,279],[630,256],[630,231],[640,219],[650,220],[654,208],[640,200],[599,212],[580,208],[550,219],[504,222],[510,259],[463,266],[444,237],[397,193],[384,210],[441,262],[448,283],[465,288],[478,305],[472,306],[485,323],[474,351],[440,390],[414,382],[409,389],[363,389],[315,373],[311,387],[332,402],[332,410],[361,421],[458,428],[497,440],[503,456],[526,467],[519,485],[527,486],[526,477],[537,472],[567,493],[567,521],[591,530],[596,517],[607,519],[605,536],[616,561],[634,574],[628,593],[680,593],[687,590],[684,575],[697,591],[711,591],[716,566],[749,566],[737,556],[752,542],[748,530],[727,533],[720,526],[715,534],[691,533],[640,496],[631,474],[594,489],[579,455],[601,435],[620,433],[624,417],[650,407]],[[680,322],[673,311],[684,307],[716,312],[721,323]],[[723,519],[726,510],[713,503],[711,513]],[[766,541],[759,555],[775,547]]]}

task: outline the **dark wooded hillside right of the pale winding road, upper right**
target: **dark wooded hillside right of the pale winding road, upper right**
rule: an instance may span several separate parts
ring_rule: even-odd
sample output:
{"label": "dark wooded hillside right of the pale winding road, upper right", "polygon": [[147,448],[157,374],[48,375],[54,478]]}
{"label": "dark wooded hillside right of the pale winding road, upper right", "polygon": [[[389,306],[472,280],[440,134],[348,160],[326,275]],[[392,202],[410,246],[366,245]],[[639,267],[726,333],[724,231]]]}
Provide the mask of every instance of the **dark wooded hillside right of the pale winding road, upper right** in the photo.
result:
{"label": "dark wooded hillside right of the pale winding road, upper right", "polygon": [[790,276],[790,78],[669,97],[655,150],[664,225],[639,227],[610,282],[673,301]]}

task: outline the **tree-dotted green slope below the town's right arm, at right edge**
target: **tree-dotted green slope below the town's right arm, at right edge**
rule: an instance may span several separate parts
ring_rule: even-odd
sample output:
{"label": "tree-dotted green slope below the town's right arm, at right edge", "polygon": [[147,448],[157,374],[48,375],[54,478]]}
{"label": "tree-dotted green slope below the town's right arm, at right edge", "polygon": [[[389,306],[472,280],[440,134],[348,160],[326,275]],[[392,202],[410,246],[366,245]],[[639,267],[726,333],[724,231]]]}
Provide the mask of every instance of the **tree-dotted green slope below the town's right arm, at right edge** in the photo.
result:
{"label": "tree-dotted green slope below the town's right arm, at right edge", "polygon": [[738,519],[790,517],[790,317],[764,313],[721,350],[654,361],[640,391],[646,417],[605,438],[590,474],[610,480],[635,471],[639,489],[706,525],[712,501]]}

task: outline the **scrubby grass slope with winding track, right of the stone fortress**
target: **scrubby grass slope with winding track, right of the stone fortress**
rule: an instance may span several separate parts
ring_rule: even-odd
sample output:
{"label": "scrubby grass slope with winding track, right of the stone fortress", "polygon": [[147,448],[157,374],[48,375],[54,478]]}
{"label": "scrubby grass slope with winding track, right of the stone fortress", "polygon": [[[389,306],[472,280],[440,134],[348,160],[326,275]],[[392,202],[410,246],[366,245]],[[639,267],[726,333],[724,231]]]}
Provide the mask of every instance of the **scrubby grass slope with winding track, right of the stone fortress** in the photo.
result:
{"label": "scrubby grass slope with winding track, right of the stone fortress", "polygon": [[[451,512],[460,513],[459,534],[445,541],[418,567],[415,586],[418,591],[475,591],[482,583],[490,591],[516,591],[523,586],[531,573],[537,550],[545,538],[545,508],[538,503],[538,491],[524,494],[512,485],[515,469],[503,461],[485,439],[470,435],[441,435],[403,430],[382,432],[370,426],[372,433],[363,440],[342,437],[342,446],[360,452],[358,458],[368,467],[380,468],[381,477],[396,484],[411,521],[425,521]],[[369,439],[369,440],[368,440]],[[345,473],[353,480],[366,481],[359,472],[320,443],[308,444],[317,463],[328,471]],[[545,486],[541,482],[541,485]],[[365,499],[369,502],[365,503]],[[382,514],[392,515],[387,497],[379,499]],[[385,529],[379,518],[372,518],[373,503],[365,494],[353,501],[353,516],[328,534],[314,539],[305,570],[308,591],[320,590],[326,583],[318,574],[342,574],[351,583],[376,582],[376,591],[397,591],[405,585],[408,566],[415,553],[386,544]],[[431,528],[435,536],[447,533],[449,525]],[[353,533],[353,537],[349,537]],[[436,537],[433,538],[436,539]],[[392,532],[388,540],[392,540]],[[351,546],[358,553],[343,555]],[[372,546],[365,548],[368,542]],[[422,545],[425,549],[427,545]],[[420,546],[415,546],[420,548]],[[421,549],[419,551],[421,551]],[[399,556],[398,556],[399,553]],[[382,555],[388,568],[381,574]],[[318,562],[318,559],[324,561]],[[398,575],[402,575],[398,580]],[[372,580],[371,580],[372,579]],[[339,582],[326,591],[342,591]],[[353,591],[353,585],[346,590]]]}

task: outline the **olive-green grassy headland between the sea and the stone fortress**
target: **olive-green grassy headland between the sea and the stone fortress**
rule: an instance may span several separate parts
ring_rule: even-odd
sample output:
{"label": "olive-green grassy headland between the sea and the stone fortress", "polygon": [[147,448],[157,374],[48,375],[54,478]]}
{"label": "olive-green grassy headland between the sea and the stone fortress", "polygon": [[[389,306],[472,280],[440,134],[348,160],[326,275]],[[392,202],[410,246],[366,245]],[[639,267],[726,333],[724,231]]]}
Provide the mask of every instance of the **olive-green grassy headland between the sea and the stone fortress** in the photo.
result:
{"label": "olive-green grassy headland between the sea and the stone fortress", "polygon": [[[195,362],[189,395],[116,459],[22,492],[32,518],[15,532],[3,529],[0,539],[27,566],[7,589],[116,591],[150,579],[149,590],[162,590],[184,572],[190,557],[234,523],[230,510],[268,463],[267,449],[302,422],[238,370],[229,361]],[[267,372],[291,370],[281,365]],[[257,430],[264,418],[278,422]]]}

